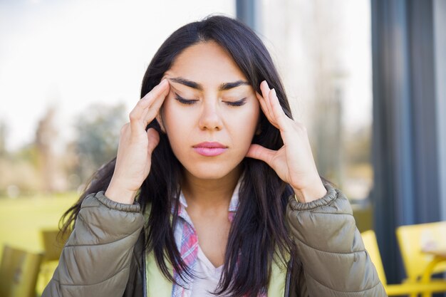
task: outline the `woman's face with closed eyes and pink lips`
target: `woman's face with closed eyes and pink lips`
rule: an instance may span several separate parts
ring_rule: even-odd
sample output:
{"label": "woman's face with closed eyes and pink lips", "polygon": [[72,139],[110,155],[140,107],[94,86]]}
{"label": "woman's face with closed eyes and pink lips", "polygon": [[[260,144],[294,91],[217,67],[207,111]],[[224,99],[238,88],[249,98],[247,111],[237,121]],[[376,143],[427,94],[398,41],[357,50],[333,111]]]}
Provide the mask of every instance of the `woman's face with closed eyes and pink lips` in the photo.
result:
{"label": "woman's face with closed eyes and pink lips", "polygon": [[187,174],[219,179],[237,169],[259,120],[256,93],[237,64],[214,41],[198,43],[163,78],[170,93],[157,119]]}

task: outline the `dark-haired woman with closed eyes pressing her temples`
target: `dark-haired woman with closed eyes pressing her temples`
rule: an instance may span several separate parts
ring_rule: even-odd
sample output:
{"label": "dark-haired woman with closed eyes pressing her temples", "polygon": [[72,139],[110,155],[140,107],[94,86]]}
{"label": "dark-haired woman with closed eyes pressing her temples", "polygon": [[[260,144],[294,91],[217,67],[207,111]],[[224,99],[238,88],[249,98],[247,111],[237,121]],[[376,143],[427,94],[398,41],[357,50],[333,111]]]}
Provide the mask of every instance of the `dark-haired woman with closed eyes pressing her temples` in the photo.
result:
{"label": "dark-haired woman with closed eyes pressing her temples", "polygon": [[179,28],[141,96],[43,296],[385,296],[247,26]]}

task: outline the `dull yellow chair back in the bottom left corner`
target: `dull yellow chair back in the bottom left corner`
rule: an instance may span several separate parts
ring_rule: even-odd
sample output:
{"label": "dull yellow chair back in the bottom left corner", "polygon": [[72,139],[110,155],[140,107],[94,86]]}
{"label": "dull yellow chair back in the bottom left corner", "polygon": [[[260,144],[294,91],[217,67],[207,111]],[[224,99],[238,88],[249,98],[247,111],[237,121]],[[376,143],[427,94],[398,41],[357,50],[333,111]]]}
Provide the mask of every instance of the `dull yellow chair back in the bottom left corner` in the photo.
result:
{"label": "dull yellow chair back in the bottom left corner", "polygon": [[43,255],[4,246],[0,264],[0,297],[35,297]]}

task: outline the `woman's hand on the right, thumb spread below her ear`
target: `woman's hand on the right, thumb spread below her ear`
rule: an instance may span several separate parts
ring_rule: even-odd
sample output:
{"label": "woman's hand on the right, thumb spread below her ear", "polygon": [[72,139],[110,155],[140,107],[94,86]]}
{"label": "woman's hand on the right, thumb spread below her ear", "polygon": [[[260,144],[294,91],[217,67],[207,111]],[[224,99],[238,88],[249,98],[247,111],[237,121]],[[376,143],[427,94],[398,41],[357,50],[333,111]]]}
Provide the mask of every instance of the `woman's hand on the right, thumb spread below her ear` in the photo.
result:
{"label": "woman's hand on the right, thumb spread below her ear", "polygon": [[284,182],[293,187],[299,202],[311,202],[325,196],[327,191],[316,169],[306,127],[285,115],[276,90],[270,90],[265,80],[261,82],[260,90],[262,95],[256,95],[261,109],[269,122],[280,130],[284,146],[280,150],[269,150],[253,144],[247,157],[266,162]]}

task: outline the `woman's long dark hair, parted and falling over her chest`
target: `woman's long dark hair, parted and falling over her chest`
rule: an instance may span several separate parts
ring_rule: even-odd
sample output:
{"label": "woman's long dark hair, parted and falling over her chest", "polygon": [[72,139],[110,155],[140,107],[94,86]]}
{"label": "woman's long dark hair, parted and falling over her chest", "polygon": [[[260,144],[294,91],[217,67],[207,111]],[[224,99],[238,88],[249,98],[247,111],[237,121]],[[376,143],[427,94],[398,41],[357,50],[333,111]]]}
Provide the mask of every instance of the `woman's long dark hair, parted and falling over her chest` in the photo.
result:
{"label": "woman's long dark hair, parted and falling over her chest", "polygon": [[[227,16],[208,16],[177,29],[160,46],[142,80],[141,98],[160,83],[162,75],[174,63],[179,53],[196,43],[215,41],[229,53],[247,81],[258,93],[266,80],[275,88],[281,107],[289,118],[291,109],[276,67],[254,31],[236,19]],[[160,132],[157,120],[147,125]],[[260,118],[260,134],[253,143],[271,150],[279,150],[283,142],[279,130],[266,119]],[[257,296],[269,283],[272,261],[286,264],[287,256],[295,254],[295,247],[286,229],[285,211],[293,191],[266,163],[244,158],[244,177],[239,189],[239,207],[232,221],[224,256],[224,269],[217,294],[229,296]],[[64,214],[63,231],[71,229],[83,199],[90,193],[105,191],[115,168],[115,159],[95,172],[78,202]],[[160,270],[170,281],[175,281],[166,261],[180,276],[190,276],[182,261],[174,239],[177,214],[170,221],[172,207],[177,208],[182,165],[172,152],[167,135],[160,132],[160,143],[152,153],[152,167],[142,183],[138,202],[143,209],[150,204],[146,248],[153,251]],[[61,221],[61,222],[63,222]],[[237,265],[236,265],[237,264]]]}

